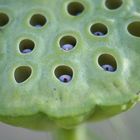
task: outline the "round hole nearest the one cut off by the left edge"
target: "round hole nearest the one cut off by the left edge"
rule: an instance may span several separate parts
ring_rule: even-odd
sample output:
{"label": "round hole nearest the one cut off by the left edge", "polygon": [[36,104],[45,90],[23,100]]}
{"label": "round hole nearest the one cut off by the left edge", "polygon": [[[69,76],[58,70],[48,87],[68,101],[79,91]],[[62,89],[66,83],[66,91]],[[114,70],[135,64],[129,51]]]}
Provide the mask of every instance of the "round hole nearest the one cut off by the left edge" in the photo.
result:
{"label": "round hole nearest the one cut off by the left edge", "polygon": [[45,16],[41,14],[35,14],[30,19],[30,24],[36,28],[41,28],[46,24],[47,20]]}

